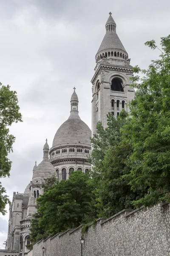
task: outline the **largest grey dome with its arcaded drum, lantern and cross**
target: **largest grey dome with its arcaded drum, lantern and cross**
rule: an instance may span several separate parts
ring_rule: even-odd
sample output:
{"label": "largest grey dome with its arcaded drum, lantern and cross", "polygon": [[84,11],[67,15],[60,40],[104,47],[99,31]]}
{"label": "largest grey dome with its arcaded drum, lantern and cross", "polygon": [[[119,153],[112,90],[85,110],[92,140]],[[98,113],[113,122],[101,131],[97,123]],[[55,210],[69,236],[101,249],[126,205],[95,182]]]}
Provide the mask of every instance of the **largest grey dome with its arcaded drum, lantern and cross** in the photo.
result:
{"label": "largest grey dome with its arcaded drum, lantern and cross", "polygon": [[86,173],[91,167],[87,161],[88,154],[91,154],[91,129],[79,117],[75,88],[70,103],[70,116],[57,130],[50,149],[50,161],[59,180],[68,179],[71,171]]}

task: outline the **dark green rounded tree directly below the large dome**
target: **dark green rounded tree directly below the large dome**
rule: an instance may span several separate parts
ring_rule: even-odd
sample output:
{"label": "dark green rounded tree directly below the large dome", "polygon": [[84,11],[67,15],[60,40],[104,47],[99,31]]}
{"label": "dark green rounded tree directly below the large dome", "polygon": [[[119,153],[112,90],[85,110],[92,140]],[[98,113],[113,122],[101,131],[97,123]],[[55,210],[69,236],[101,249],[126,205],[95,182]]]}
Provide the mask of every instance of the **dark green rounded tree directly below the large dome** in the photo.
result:
{"label": "dark green rounded tree directly below the large dome", "polygon": [[54,235],[81,223],[92,221],[94,215],[93,187],[88,174],[72,172],[37,199],[37,213],[31,221],[31,242]]}

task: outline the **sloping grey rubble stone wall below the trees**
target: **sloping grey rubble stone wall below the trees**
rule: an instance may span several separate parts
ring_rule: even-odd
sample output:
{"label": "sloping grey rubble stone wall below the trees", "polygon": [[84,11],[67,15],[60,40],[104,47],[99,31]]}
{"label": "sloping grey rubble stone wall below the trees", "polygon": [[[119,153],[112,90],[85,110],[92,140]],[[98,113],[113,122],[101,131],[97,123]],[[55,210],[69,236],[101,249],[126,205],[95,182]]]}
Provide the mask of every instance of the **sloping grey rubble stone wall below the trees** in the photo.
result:
{"label": "sloping grey rubble stone wall below the trees", "polygon": [[[81,226],[33,245],[33,256],[80,256]],[[170,206],[125,209],[84,235],[83,256],[170,256]]]}

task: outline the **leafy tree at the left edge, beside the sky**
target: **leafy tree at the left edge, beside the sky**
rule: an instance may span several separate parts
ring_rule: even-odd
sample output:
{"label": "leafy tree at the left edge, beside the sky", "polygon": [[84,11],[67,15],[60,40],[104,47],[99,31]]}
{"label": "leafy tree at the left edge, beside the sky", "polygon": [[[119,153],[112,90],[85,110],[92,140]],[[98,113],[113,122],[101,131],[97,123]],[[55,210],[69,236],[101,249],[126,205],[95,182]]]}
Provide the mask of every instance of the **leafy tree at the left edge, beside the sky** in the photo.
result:
{"label": "leafy tree at the left edge, beside the sky", "polygon": [[[11,161],[8,154],[12,151],[15,137],[9,134],[9,126],[14,122],[22,122],[18,106],[17,92],[10,90],[10,86],[0,83],[0,178],[9,176]],[[0,183],[0,212],[6,213],[5,206],[8,196],[4,195],[5,188]]]}

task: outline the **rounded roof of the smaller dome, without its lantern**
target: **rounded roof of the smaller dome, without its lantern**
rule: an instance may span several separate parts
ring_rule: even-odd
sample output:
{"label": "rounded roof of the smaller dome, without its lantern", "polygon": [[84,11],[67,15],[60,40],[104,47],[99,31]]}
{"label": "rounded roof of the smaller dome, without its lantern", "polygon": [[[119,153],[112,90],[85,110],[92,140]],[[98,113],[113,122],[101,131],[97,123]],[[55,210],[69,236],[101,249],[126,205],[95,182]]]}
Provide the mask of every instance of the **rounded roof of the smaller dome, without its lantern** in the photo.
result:
{"label": "rounded roof of the smaller dome, without its lantern", "polygon": [[54,166],[49,162],[49,160],[43,159],[34,171],[32,182],[40,183],[52,176],[57,176]]}

